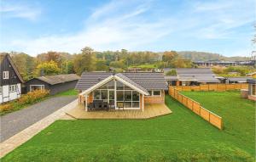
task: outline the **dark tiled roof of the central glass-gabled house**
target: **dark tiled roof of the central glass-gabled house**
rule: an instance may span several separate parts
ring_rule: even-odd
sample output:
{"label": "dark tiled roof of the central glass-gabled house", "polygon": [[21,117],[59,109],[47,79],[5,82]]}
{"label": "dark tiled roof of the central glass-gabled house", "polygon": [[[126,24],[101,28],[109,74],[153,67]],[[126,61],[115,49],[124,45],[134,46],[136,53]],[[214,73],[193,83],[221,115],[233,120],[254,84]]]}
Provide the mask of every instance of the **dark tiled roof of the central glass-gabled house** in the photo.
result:
{"label": "dark tiled roof of the central glass-gabled house", "polygon": [[[96,83],[106,79],[110,75],[113,74],[107,72],[83,73],[81,79],[78,81],[76,89],[84,91],[96,85]],[[121,73],[121,75],[125,75],[131,81],[135,82],[138,86],[143,87],[146,90],[167,89],[166,81],[162,73]]]}

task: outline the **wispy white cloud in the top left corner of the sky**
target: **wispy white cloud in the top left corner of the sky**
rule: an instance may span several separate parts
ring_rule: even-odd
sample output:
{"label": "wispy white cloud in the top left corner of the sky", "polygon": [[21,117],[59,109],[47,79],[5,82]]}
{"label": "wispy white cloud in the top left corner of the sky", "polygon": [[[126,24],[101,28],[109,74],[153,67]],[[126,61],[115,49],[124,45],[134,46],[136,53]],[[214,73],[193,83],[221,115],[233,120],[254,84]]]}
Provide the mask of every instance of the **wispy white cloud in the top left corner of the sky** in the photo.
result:
{"label": "wispy white cloud in the top left corner of the sky", "polygon": [[8,1],[4,1],[0,5],[0,14],[2,18],[37,20],[38,16],[41,14],[41,9],[35,6],[8,3]]}

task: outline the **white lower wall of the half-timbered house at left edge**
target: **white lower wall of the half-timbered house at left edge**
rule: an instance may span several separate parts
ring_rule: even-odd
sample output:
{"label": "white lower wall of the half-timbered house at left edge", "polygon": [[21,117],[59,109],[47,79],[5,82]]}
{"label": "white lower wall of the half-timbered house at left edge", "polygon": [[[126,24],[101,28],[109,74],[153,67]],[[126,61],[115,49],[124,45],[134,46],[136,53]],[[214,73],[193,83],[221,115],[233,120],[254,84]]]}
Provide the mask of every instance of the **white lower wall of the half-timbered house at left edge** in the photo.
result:
{"label": "white lower wall of the half-timbered house at left edge", "polygon": [[20,83],[15,85],[17,86],[16,92],[9,92],[9,85],[2,87],[2,95],[0,95],[0,103],[5,103],[5,102],[9,102],[17,98],[20,98],[20,91],[21,91]]}

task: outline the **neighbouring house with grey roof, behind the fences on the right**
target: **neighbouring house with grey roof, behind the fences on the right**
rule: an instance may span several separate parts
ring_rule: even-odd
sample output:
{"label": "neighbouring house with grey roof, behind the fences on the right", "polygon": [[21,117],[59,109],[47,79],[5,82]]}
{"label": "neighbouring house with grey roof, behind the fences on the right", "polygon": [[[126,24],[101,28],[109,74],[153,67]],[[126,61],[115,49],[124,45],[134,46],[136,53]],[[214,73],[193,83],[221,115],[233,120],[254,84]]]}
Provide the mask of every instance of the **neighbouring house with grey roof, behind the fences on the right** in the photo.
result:
{"label": "neighbouring house with grey roof, behind the fences on the right", "polygon": [[218,76],[210,68],[177,68],[177,76],[166,76],[172,86],[193,86],[207,83],[220,83]]}

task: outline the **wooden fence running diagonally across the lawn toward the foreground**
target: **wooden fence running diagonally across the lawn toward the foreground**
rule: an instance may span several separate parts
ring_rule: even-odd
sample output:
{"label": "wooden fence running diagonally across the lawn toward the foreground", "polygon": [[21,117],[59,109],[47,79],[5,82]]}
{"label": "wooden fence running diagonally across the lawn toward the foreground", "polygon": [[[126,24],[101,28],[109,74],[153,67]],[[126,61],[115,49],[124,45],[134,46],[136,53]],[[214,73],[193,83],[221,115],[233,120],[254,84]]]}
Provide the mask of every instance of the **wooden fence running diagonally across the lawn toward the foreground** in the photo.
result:
{"label": "wooden fence running diagonally across the lawn toward the foreground", "polygon": [[172,98],[177,99],[178,102],[183,103],[184,106],[189,108],[196,115],[200,115],[201,118],[207,120],[213,126],[216,126],[218,129],[222,130],[223,122],[220,116],[215,115],[211,111],[203,108],[200,103],[194,101],[193,99],[184,96],[175,87],[169,87],[169,95],[171,95]]}

